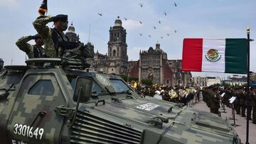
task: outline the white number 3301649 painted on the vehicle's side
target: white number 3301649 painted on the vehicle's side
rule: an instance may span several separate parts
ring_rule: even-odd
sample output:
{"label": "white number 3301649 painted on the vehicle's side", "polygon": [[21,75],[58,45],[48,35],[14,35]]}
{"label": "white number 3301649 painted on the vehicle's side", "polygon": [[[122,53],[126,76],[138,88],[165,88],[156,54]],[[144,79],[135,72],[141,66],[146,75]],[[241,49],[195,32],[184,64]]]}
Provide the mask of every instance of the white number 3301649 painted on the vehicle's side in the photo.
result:
{"label": "white number 3301649 painted on the vehicle's side", "polygon": [[33,128],[33,126],[30,127],[30,126],[26,126],[18,123],[14,125],[14,134],[23,135],[28,138],[36,138],[41,140],[43,136],[43,132],[44,132],[43,128]]}

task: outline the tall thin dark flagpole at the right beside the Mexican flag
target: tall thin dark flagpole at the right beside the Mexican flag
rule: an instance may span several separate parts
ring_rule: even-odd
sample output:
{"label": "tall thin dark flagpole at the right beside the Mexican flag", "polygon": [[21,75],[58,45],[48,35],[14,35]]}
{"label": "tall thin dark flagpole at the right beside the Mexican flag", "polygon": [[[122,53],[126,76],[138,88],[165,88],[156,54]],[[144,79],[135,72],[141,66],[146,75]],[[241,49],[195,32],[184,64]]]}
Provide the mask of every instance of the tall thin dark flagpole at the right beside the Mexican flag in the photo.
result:
{"label": "tall thin dark flagpole at the right beside the Mexican flag", "polygon": [[247,26],[247,121],[246,121],[246,142],[249,144],[249,96],[250,96],[250,28]]}

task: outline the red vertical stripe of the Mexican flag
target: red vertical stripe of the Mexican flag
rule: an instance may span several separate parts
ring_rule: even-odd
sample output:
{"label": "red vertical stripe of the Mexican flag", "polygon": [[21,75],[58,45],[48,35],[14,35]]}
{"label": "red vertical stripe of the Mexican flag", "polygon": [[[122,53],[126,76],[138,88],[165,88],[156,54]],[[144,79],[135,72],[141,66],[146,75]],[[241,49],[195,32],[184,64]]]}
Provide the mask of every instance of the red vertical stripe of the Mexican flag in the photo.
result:
{"label": "red vertical stripe of the Mexican flag", "polygon": [[183,71],[202,71],[203,38],[184,38],[182,53]]}

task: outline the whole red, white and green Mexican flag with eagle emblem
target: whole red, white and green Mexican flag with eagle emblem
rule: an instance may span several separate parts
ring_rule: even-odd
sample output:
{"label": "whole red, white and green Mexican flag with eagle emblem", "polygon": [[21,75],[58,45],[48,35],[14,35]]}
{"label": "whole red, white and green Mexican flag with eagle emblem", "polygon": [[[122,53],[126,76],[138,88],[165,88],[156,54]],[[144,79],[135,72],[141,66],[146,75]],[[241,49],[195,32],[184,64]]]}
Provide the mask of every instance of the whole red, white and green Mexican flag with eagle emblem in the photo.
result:
{"label": "whole red, white and green Mexican flag with eagle emblem", "polygon": [[185,38],[182,70],[246,74],[247,39]]}

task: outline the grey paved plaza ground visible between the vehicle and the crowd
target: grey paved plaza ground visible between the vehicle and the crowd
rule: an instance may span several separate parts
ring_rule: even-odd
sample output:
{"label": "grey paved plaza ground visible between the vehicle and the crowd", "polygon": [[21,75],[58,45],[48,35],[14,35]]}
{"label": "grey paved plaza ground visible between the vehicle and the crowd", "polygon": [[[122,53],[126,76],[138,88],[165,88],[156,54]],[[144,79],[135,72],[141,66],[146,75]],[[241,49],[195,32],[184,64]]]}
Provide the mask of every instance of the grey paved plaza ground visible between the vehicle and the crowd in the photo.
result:
{"label": "grey paved plaza ground visible between the vehicle and the crowd", "polygon": [[[201,96],[202,99],[202,96]],[[196,103],[193,108],[200,109],[203,111],[210,112],[210,109],[206,106],[206,103],[204,101],[199,101]],[[225,106],[225,111],[227,113],[223,113],[223,109],[219,109],[221,113],[221,117],[224,119],[230,119],[233,118],[232,116],[232,109]],[[229,120],[230,123],[234,123],[233,119]],[[246,117],[242,117],[241,115],[235,114],[235,124],[239,125],[235,127],[235,131],[238,133],[239,137],[242,140],[242,143],[245,143],[246,140]],[[249,121],[249,143],[250,144],[256,144],[256,124],[253,124],[252,121]]]}

